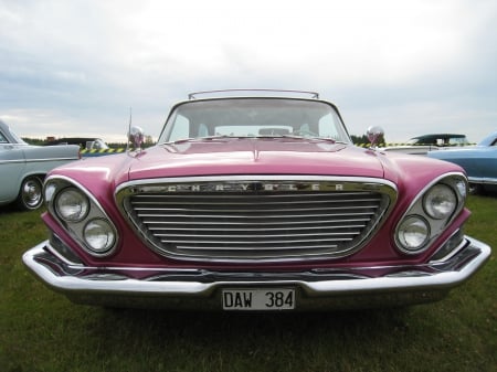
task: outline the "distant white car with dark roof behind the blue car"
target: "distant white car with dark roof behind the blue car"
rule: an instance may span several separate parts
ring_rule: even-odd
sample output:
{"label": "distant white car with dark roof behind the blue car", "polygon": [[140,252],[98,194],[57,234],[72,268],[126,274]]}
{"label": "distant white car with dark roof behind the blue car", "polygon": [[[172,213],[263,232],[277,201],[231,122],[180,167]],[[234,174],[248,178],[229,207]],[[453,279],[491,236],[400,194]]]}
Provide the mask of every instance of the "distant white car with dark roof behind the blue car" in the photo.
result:
{"label": "distant white car with dark roof behind the blue car", "polygon": [[436,134],[413,137],[402,145],[383,147],[383,151],[399,151],[412,155],[426,155],[429,151],[446,147],[468,146],[465,135]]}

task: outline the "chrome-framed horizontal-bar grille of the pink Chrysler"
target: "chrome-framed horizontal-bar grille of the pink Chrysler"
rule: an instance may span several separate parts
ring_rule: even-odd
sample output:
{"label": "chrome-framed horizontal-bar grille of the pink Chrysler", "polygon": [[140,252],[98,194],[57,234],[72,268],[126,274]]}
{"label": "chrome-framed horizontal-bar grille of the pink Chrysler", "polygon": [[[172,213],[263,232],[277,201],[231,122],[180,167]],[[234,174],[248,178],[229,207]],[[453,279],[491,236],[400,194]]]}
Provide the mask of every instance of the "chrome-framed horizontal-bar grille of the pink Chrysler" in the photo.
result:
{"label": "chrome-framed horizontal-bar grille of the pink Chrysler", "polygon": [[359,249],[395,199],[371,179],[175,179],[130,183],[117,200],[161,255],[254,262],[341,257]]}

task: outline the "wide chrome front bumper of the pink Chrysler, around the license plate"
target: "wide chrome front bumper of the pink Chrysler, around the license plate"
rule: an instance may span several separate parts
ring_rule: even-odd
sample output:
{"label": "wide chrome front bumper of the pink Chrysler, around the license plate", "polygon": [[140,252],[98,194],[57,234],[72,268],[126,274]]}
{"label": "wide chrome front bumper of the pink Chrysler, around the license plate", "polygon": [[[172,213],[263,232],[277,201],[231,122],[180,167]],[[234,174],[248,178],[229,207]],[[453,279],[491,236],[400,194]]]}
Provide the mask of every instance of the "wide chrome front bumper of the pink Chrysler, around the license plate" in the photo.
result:
{"label": "wide chrome front bumper of the pink Chrysler, around the license plate", "polygon": [[[456,254],[419,266],[310,269],[299,273],[224,273],[200,269],[86,267],[53,253],[47,241],[28,251],[27,267],[76,304],[220,310],[222,289],[294,288],[296,310],[329,310],[432,302],[475,274],[490,247],[465,236]],[[139,273],[136,279],[129,273]],[[369,273],[368,276],[361,273]]]}

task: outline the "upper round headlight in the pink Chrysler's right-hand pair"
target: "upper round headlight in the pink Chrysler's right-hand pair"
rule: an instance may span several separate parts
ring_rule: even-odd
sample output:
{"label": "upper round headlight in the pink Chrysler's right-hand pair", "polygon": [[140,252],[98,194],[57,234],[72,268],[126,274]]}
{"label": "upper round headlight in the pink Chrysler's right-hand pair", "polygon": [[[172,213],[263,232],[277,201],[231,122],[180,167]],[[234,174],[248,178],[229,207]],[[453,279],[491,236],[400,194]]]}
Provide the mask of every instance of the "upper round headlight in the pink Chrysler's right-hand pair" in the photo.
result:
{"label": "upper round headlight in the pink Chrysler's right-hand pair", "polygon": [[457,208],[457,196],[452,188],[438,183],[424,195],[423,208],[432,219],[447,219]]}

